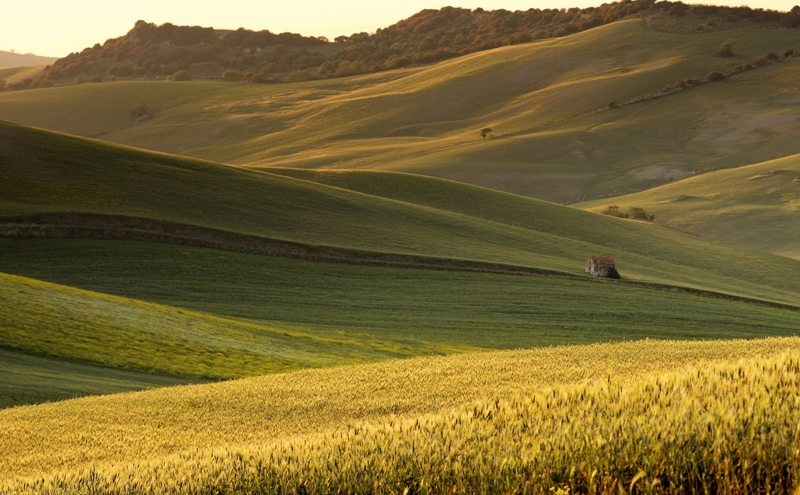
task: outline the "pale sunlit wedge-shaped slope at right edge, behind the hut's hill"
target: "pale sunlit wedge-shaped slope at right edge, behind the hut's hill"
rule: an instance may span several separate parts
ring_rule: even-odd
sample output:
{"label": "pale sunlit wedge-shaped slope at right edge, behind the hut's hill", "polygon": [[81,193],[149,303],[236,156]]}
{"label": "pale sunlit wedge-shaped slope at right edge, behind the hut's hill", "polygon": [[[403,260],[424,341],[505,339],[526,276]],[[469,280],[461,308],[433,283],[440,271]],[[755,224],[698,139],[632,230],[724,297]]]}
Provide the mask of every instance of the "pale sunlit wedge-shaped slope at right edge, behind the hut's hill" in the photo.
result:
{"label": "pale sunlit wedge-shaped slope at right edge, behind the hut's hill", "polygon": [[642,207],[656,223],[800,259],[800,156],[720,170],[626,196],[578,205]]}

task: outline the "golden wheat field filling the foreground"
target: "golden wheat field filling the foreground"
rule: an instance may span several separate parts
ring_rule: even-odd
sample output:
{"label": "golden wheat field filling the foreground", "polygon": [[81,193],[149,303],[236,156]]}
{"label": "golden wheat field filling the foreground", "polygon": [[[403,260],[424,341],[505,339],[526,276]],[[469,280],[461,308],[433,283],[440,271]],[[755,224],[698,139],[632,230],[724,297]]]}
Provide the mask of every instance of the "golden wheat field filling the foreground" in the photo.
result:
{"label": "golden wheat field filling the foreground", "polygon": [[0,489],[791,493],[798,351],[559,347],[15,408],[0,411]]}

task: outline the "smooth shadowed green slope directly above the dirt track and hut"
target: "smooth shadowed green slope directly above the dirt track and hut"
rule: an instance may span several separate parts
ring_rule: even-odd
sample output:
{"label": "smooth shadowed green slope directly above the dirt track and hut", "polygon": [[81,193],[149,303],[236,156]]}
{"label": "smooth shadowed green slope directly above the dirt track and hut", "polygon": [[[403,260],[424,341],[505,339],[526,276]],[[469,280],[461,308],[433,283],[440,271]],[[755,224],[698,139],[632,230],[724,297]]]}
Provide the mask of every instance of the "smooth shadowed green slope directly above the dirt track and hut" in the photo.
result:
{"label": "smooth shadowed green slope directly above the dirt track and hut", "polygon": [[[4,217],[126,215],[212,229],[203,233],[211,240],[224,231],[571,274],[582,273],[587,255],[600,253],[616,257],[625,278],[789,303],[796,303],[800,293],[800,281],[784,276],[798,269],[797,261],[491,190],[408,175],[376,176],[398,181],[392,197],[413,197],[422,190],[419,184],[427,184],[422,188],[441,187],[449,198],[405,202],[10,124],[0,126],[0,133]],[[52,221],[69,224],[71,219]],[[114,234],[113,225],[109,229]]]}

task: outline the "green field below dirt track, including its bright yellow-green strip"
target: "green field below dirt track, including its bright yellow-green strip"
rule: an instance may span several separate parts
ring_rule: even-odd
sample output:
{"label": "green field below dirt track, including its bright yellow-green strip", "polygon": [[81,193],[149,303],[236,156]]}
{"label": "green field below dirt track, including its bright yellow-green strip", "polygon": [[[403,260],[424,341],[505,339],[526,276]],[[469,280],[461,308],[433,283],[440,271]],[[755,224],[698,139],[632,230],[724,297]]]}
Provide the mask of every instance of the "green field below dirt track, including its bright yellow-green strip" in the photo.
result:
{"label": "green field below dirt track, including its bright yellow-green strip", "polygon": [[[187,377],[629,339],[797,335],[800,312],[554,276],[120,241],[1,241],[0,345]],[[57,262],[55,261],[57,260]],[[59,285],[38,282],[47,280]]]}

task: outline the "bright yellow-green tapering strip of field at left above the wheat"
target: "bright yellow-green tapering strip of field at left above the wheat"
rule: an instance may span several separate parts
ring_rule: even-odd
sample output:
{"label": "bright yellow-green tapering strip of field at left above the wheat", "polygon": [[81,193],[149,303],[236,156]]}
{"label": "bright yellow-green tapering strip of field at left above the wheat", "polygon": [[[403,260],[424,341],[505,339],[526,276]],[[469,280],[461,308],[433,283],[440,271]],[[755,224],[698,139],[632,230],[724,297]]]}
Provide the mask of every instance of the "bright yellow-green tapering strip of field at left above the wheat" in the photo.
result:
{"label": "bright yellow-green tapering strip of field at left above the wheat", "polygon": [[356,346],[296,328],[35,279],[0,274],[0,293],[6,302],[0,308],[0,346],[39,356],[195,379],[363,360]]}

